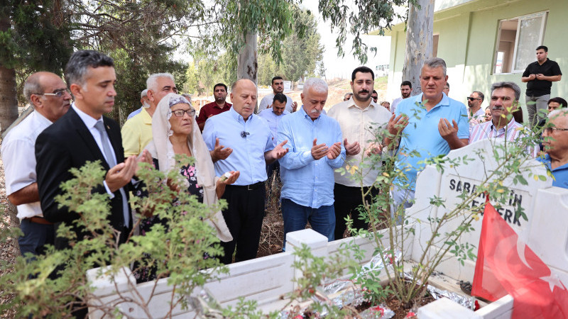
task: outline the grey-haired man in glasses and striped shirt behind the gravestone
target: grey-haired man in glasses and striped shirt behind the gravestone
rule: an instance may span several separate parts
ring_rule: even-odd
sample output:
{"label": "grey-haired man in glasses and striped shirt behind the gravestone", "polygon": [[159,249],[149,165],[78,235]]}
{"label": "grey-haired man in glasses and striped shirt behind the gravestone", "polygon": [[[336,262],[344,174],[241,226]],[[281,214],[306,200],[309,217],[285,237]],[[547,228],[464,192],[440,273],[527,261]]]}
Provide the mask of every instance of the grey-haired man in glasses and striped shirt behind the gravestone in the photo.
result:
{"label": "grey-haired man in glasses and striped shirt behind the gravestone", "polygon": [[[522,112],[519,107],[520,87],[515,82],[497,82],[491,85],[491,121],[475,125],[471,128],[469,144],[488,138],[506,138],[512,142],[521,138],[523,125],[515,121],[514,114]],[[508,120],[507,116],[513,117]],[[530,147],[533,157],[537,155],[537,147]]]}

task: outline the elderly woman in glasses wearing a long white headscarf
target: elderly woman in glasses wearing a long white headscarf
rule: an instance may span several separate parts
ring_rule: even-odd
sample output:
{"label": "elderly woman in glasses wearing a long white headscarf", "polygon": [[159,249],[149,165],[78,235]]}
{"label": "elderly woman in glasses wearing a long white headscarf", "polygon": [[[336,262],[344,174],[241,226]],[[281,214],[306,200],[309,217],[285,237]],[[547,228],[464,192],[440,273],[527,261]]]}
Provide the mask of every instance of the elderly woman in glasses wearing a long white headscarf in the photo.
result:
{"label": "elderly woman in glasses wearing a long white headscarf", "polygon": [[[152,117],[152,134],[152,141],[146,150],[151,153],[154,166],[160,172],[175,168],[175,155],[195,158],[193,165],[181,167],[180,174],[187,179],[187,191],[203,203],[216,203],[223,195],[225,186],[239,178],[238,171],[229,172],[231,176],[225,180],[215,176],[211,155],[195,122],[195,109],[183,96],[170,93],[158,103]],[[156,222],[155,216],[142,220],[141,235]],[[207,222],[216,230],[219,240],[229,242],[233,239],[221,211],[207,218]]]}

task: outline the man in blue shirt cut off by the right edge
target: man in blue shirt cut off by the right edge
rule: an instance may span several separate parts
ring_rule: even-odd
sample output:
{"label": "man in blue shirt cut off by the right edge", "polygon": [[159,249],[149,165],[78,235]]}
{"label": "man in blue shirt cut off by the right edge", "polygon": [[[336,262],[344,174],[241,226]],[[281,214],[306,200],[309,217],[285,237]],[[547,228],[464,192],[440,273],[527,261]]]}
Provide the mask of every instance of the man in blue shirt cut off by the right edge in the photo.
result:
{"label": "man in blue shirt cut off by the right edge", "polygon": [[552,186],[568,189],[568,109],[559,108],[548,115],[550,123],[542,130],[543,162],[552,171]]}

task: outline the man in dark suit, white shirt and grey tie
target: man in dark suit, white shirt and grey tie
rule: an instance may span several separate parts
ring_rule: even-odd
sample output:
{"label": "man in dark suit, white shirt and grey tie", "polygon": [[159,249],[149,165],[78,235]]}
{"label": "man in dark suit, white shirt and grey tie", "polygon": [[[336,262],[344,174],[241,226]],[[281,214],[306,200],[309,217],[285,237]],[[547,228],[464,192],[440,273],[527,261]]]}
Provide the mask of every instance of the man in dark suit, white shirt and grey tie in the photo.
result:
{"label": "man in dark suit, white shirt and grey tie", "polygon": [[[119,242],[124,242],[132,228],[132,218],[126,189],[138,162],[141,159],[131,156],[124,160],[119,125],[104,113],[114,106],[114,84],[116,74],[114,62],[102,53],[83,50],[75,52],[65,67],[65,79],[75,103],[69,111],[44,130],[35,142],[36,171],[40,202],[45,219],[56,223],[71,225],[79,218],[68,208],[58,208],[55,196],[62,193],[60,184],[72,178],[69,169],[80,168],[87,161],[99,159],[107,169],[104,187],[96,191],[107,193],[111,198],[109,223],[119,230]],[[78,240],[82,234],[75,229]],[[68,247],[67,241],[55,239],[55,248]]]}

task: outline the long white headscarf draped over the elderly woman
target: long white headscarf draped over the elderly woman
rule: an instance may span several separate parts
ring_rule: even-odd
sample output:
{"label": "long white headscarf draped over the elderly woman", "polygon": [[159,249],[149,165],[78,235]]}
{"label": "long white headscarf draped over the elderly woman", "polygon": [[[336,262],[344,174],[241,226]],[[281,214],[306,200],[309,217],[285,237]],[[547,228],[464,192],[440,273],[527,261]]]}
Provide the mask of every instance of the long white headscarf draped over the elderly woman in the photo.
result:
{"label": "long white headscarf draped over the elderly woman", "polygon": [[[146,150],[158,159],[160,172],[168,172],[175,168],[175,153],[173,145],[170,142],[170,136],[173,131],[170,125],[170,105],[185,103],[191,106],[191,103],[184,97],[170,93],[163,97],[158,103],[158,107],[152,116],[152,141],[146,146]],[[187,135],[187,145],[190,147],[192,156],[195,158],[195,171],[197,172],[197,184],[203,189],[203,203],[211,206],[217,203],[216,183],[219,177],[215,176],[215,168],[209,155],[207,145],[203,140],[199,126],[192,117],[192,133]],[[217,237],[223,242],[233,240],[229,228],[226,227],[225,220],[221,211],[217,211],[212,218],[208,218],[207,222],[217,231]]]}

